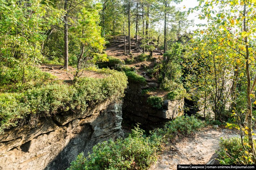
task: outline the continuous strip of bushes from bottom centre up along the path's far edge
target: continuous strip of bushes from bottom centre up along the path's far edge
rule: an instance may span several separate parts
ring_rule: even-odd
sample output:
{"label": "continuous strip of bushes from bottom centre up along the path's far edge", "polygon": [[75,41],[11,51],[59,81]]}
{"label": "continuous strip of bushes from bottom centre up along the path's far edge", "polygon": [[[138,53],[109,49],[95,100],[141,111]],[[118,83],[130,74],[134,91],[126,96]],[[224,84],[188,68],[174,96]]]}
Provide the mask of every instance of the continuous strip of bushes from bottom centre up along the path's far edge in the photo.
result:
{"label": "continuous strip of bushes from bottom centre up along the path's far edge", "polygon": [[[183,128],[186,124],[188,125]],[[180,116],[167,122],[164,128],[150,131],[150,135],[146,137],[137,125],[126,139],[119,138],[116,142],[109,140],[99,143],[87,157],[80,153],[68,170],[147,169],[150,164],[156,162],[156,155],[160,153],[161,145],[170,134],[173,134],[172,137],[176,133],[191,134],[203,126],[203,122],[194,116]]]}

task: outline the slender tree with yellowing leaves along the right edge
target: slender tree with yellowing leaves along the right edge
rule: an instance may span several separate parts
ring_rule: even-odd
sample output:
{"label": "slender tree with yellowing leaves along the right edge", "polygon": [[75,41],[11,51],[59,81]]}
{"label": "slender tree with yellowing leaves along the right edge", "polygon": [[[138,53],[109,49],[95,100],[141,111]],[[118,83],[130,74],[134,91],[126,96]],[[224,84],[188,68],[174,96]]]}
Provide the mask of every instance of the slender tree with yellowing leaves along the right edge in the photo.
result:
{"label": "slender tree with yellowing leaves along the right edge", "polygon": [[[225,47],[232,50],[234,56],[239,56],[237,60],[245,63],[247,113],[244,118],[244,126],[247,129],[245,134],[248,134],[249,144],[254,155],[256,153],[252,140],[252,97],[254,96],[256,76],[252,80],[251,73],[255,71],[255,3],[254,0],[221,0],[211,2],[200,0],[199,6],[190,9],[191,12],[193,10],[201,10],[199,18],[207,18],[210,29],[212,25],[218,24],[222,34],[220,34],[219,40],[215,41],[219,42],[220,48]],[[215,10],[216,7],[218,11]],[[243,77],[243,73],[241,73],[241,77]]]}

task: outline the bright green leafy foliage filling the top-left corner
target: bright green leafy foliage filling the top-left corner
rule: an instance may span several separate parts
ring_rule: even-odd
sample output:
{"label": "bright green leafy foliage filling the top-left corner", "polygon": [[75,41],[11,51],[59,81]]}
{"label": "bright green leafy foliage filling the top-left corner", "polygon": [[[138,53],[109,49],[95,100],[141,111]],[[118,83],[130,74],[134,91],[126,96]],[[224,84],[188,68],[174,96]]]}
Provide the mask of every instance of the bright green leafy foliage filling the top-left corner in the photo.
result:
{"label": "bright green leafy foliage filling the top-left corner", "polygon": [[45,32],[60,22],[63,11],[41,0],[1,0],[0,11],[0,61],[5,66],[19,63],[21,70],[35,66],[42,59]]}

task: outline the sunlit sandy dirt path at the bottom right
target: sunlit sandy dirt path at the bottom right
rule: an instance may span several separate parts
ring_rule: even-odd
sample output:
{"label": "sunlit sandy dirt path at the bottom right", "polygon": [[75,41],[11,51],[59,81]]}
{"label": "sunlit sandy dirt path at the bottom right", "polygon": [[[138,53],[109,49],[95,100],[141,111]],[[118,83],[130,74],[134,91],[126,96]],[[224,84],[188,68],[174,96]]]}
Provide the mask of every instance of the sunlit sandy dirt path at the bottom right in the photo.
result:
{"label": "sunlit sandy dirt path at the bottom right", "polygon": [[157,163],[150,170],[177,169],[177,164],[207,164],[219,149],[220,137],[229,138],[238,134],[229,129],[205,128],[193,137],[185,137],[166,147]]}

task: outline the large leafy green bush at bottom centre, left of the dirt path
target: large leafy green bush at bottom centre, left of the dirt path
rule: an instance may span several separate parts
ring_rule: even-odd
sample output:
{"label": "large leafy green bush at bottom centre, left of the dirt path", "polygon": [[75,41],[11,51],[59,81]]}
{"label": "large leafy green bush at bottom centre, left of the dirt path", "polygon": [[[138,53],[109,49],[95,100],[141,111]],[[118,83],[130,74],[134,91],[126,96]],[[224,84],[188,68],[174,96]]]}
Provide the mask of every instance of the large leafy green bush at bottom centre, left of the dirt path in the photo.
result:
{"label": "large leafy green bush at bottom centre, left of the dirt path", "polygon": [[137,126],[125,139],[99,143],[86,158],[80,153],[68,169],[146,169],[156,161],[160,138],[143,133]]}

